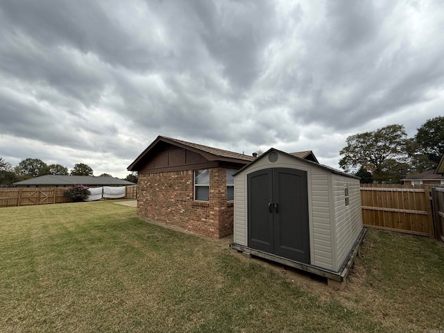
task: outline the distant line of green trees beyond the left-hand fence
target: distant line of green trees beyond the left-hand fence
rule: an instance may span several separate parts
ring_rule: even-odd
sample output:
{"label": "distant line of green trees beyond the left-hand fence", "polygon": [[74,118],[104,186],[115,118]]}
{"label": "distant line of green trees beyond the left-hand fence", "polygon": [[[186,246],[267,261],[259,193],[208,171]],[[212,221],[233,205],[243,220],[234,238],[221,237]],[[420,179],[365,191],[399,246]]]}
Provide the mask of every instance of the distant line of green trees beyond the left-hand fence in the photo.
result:
{"label": "distant line of green trees beyond the left-hand fence", "polygon": [[[74,164],[71,171],[61,164],[46,164],[38,158],[25,158],[15,167],[0,157],[0,185],[10,186],[14,182],[44,175],[63,176],[94,176],[94,171],[85,163]],[[112,177],[109,173],[102,173],[101,177]],[[137,174],[130,173],[125,180],[137,183]]]}

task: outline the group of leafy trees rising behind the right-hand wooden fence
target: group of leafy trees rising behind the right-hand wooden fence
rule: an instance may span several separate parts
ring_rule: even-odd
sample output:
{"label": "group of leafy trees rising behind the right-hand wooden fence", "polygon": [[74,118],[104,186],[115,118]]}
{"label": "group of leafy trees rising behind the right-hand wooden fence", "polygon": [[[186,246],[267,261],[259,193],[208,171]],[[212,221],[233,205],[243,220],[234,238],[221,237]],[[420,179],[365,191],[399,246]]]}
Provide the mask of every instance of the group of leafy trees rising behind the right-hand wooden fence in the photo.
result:
{"label": "group of leafy trees rising behind the right-hand wooden fence", "polygon": [[400,183],[413,173],[434,170],[444,154],[444,117],[428,119],[414,137],[403,125],[350,135],[339,152],[339,166],[361,182]]}

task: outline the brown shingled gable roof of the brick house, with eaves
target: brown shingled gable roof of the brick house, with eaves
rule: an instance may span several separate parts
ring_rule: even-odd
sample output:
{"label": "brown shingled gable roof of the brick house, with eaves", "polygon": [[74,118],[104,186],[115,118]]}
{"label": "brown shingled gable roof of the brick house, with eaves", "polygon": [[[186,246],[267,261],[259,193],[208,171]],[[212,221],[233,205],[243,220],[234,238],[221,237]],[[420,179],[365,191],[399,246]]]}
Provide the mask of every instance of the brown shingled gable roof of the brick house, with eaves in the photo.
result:
{"label": "brown shingled gable roof of the brick house, with eaves", "polygon": [[[251,155],[245,155],[241,153],[234,153],[233,151],[225,151],[223,149],[214,148],[210,146],[204,146],[203,144],[194,144],[192,142],[186,142],[179,139],[173,139],[171,137],[163,137],[159,135],[149,146],[146,148],[130,166],[127,168],[129,171],[137,171],[145,162],[145,157],[155,151],[156,147],[162,144],[162,142],[167,144],[173,144],[174,146],[179,146],[180,148],[187,149],[189,151],[194,151],[194,153],[198,153],[203,155],[209,161],[225,161],[225,162],[237,162],[241,164],[247,164],[252,162],[257,157],[253,157]],[[295,156],[298,156],[305,160],[311,160],[312,162],[318,163],[316,157],[311,151],[302,151]]]}

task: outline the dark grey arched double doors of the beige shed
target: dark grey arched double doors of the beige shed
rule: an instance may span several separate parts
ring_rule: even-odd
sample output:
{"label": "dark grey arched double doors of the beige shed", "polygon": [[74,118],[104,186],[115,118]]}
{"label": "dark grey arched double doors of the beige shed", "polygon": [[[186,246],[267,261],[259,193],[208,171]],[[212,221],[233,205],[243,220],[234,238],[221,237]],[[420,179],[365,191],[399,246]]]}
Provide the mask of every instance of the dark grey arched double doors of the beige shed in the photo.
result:
{"label": "dark grey arched double doors of the beige shed", "polygon": [[310,262],[307,172],[272,168],[255,171],[248,183],[248,246]]}

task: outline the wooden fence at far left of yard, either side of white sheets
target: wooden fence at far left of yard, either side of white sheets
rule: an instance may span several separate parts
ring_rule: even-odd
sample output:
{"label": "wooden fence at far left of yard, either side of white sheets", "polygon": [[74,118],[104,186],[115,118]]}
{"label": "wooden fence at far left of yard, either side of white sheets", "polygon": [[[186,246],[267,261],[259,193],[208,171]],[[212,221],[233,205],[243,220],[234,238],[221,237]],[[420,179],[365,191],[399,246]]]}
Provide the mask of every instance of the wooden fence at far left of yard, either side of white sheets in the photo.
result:
{"label": "wooden fence at far left of yard, either side of white sheets", "polygon": [[[12,187],[0,189],[0,207],[70,203],[71,200],[63,194],[66,190],[67,187]],[[121,199],[135,198],[137,198],[137,185],[127,186],[125,197]]]}

